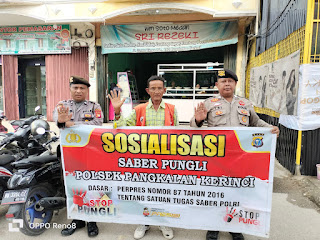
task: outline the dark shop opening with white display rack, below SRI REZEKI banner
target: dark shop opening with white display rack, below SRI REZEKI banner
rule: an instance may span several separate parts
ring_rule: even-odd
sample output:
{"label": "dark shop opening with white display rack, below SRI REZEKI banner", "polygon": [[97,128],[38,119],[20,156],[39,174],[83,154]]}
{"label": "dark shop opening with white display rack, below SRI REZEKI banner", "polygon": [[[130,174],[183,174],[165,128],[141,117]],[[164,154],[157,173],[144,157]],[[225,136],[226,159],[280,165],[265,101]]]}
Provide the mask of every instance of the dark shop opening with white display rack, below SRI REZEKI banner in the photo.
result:
{"label": "dark shop opening with white display rack, below SRI REZEKI banner", "polygon": [[[136,79],[136,85],[138,89],[139,100],[137,104],[148,101],[149,96],[145,90],[147,87],[147,79],[151,75],[158,74],[158,65],[159,64],[195,64],[195,63],[223,63],[219,65],[219,68],[227,68],[235,71],[236,66],[236,51],[237,45],[227,45],[216,48],[208,48],[202,50],[193,50],[193,51],[183,51],[183,52],[156,52],[156,53],[116,53],[108,54],[108,82],[110,83],[117,82],[117,72],[124,72],[126,69],[132,70],[132,73]],[[193,67],[191,67],[193,68]],[[178,71],[178,70],[174,70]],[[216,71],[216,70],[215,70]],[[178,73],[178,72],[175,72]],[[194,76],[196,79],[194,79]],[[181,104],[178,106],[178,112],[181,112],[181,117],[179,120],[181,122],[189,122],[190,114],[184,110],[185,106],[192,106],[188,103],[187,100],[193,99],[192,94],[199,93],[197,99],[208,98],[212,96],[213,92],[210,90],[205,90],[205,88],[212,88],[215,86],[216,74],[213,74],[213,70],[208,72],[199,72],[193,74],[193,70],[190,69],[190,72],[183,71],[183,74],[171,74],[167,73],[164,78],[167,80],[166,86],[172,87],[172,82],[175,82],[176,89],[183,88],[183,90],[174,90],[167,91],[167,93],[173,93],[172,96],[168,96],[170,100],[181,100]],[[193,83],[199,84],[199,88],[202,91],[198,90],[193,91],[194,88],[197,88]],[[181,94],[189,93],[189,94]],[[192,94],[191,94],[192,93]],[[200,94],[201,93],[201,94]],[[203,93],[203,94],[202,94]],[[206,94],[207,93],[207,94]],[[211,95],[209,95],[209,93]],[[164,95],[166,98],[167,96]],[[132,99],[133,100],[133,99]],[[193,110],[193,107],[191,107]],[[185,115],[185,116],[184,116]]]}

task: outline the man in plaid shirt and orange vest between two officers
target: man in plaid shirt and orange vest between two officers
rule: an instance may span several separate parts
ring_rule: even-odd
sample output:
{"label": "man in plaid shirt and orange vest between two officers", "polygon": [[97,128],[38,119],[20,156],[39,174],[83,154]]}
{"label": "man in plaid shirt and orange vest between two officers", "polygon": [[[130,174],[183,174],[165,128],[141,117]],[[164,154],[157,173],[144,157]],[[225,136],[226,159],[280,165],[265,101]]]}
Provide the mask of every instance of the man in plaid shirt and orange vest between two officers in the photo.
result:
{"label": "man in plaid shirt and orange vest between two officers", "polygon": [[[178,126],[177,109],[172,104],[165,103],[162,99],[166,92],[164,87],[165,79],[159,76],[151,76],[148,79],[147,93],[150,95],[149,102],[136,106],[131,114],[124,118],[121,116],[121,106],[125,99],[120,99],[119,91],[111,91],[109,99],[114,108],[115,120],[118,127],[121,126]],[[134,232],[134,238],[143,238],[146,231],[150,229],[148,225],[140,225]],[[159,226],[166,239],[173,238],[173,231],[166,226]]]}

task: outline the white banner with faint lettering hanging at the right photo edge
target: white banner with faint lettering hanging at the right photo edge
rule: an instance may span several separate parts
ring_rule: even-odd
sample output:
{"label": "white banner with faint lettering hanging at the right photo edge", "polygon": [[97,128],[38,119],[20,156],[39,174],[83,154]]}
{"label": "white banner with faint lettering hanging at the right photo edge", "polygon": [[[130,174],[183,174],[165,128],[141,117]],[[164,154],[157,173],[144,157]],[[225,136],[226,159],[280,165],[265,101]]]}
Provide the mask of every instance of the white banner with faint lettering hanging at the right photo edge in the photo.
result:
{"label": "white banner with faint lettering hanging at the right photo edge", "polygon": [[320,128],[320,64],[300,65],[297,116],[280,115],[279,123],[295,130]]}

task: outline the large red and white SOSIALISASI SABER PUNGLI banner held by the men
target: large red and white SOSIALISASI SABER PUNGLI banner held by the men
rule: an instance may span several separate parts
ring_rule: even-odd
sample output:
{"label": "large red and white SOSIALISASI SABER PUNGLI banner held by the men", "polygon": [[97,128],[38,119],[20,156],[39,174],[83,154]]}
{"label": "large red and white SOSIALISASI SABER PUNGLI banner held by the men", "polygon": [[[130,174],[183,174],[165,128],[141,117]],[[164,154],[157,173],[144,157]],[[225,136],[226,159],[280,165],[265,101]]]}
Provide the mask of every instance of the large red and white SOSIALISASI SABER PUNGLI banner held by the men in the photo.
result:
{"label": "large red and white SOSIALISASI SABER PUNGLI banner held by the men", "polygon": [[270,128],[66,128],[68,218],[268,237],[275,144]]}

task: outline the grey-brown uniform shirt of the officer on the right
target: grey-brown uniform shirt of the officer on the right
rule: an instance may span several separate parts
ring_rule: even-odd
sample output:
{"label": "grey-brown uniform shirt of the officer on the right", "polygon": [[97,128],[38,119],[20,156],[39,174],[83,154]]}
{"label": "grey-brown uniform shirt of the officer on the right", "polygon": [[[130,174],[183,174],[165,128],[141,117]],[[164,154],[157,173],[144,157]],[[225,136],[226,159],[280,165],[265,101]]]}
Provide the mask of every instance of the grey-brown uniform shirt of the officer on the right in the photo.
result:
{"label": "grey-brown uniform shirt of the officer on the right", "polygon": [[[208,111],[208,127],[272,127],[259,118],[249,100],[236,95],[231,102],[216,95],[206,99],[204,105]],[[202,125],[203,122],[196,124],[195,117],[190,120],[191,127]]]}

